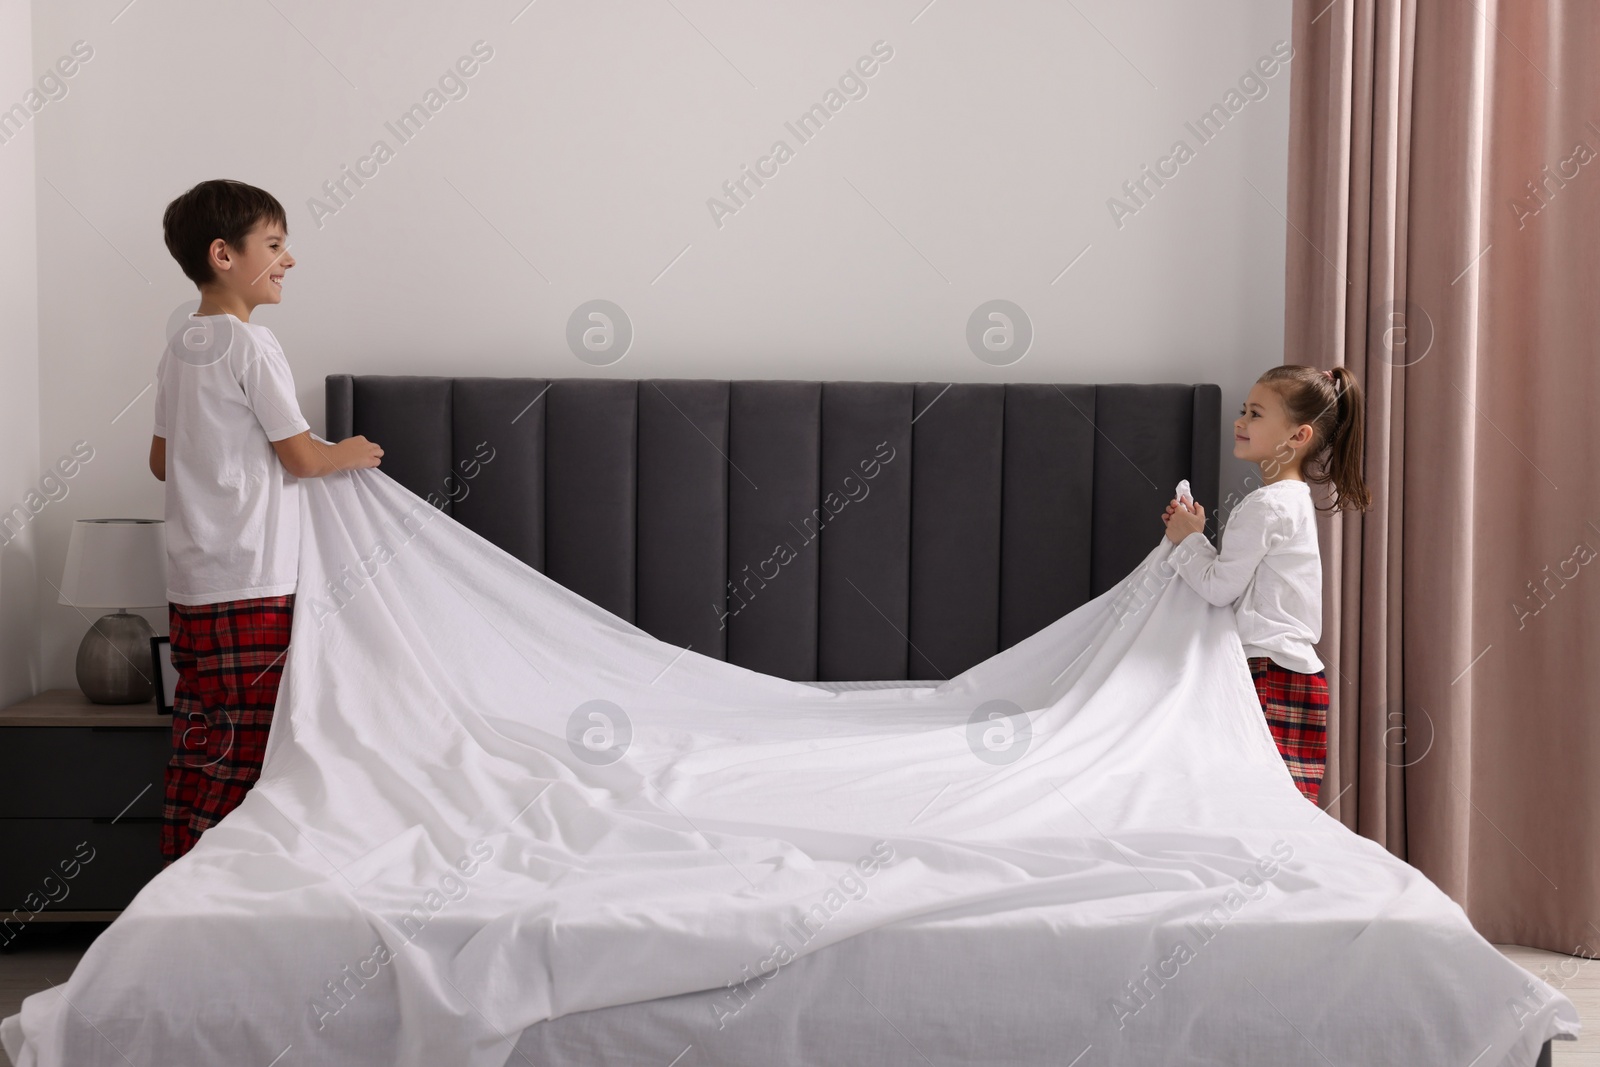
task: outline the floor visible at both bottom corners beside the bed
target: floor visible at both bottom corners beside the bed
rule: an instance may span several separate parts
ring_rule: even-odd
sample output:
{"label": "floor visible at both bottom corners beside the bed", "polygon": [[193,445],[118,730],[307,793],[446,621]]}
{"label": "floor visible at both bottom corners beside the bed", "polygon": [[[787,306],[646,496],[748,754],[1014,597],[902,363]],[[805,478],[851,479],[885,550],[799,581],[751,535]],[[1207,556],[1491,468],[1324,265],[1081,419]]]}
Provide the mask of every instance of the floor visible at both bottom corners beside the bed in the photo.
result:
{"label": "floor visible at both bottom corners beside the bed", "polygon": [[[30,928],[27,944],[19,939],[11,952],[0,955],[0,1017],[16,1014],[29,993],[67,981],[101,929],[104,926],[94,923],[38,923]],[[1600,1067],[1600,960],[1544,949],[1496,947],[1578,1006],[1584,1033],[1578,1041],[1555,1043],[1555,1067]],[[11,1067],[3,1051],[0,1064]]]}

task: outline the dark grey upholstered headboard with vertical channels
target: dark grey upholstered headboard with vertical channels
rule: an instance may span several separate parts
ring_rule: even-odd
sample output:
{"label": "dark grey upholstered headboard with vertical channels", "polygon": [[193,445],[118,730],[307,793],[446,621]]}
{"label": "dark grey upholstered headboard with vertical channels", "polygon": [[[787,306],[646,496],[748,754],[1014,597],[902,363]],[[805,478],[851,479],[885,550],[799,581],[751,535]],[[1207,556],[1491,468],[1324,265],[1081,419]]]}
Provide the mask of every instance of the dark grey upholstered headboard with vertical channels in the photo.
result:
{"label": "dark grey upholstered headboard with vertical channels", "polygon": [[330,374],[326,437],[352,434],[664,641],[947,678],[1125,577],[1179,478],[1214,510],[1221,390]]}

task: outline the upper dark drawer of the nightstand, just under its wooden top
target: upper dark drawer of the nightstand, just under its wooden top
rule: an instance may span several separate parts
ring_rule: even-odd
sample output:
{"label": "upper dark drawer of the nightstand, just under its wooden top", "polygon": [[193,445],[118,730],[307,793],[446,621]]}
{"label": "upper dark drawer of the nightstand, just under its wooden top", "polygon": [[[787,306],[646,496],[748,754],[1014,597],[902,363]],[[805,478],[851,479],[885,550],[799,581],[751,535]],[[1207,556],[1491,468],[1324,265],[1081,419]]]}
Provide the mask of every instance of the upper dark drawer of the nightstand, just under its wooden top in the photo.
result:
{"label": "upper dark drawer of the nightstand, just under its wooden top", "polygon": [[0,819],[160,817],[170,752],[170,720],[155,729],[8,726],[0,729]]}

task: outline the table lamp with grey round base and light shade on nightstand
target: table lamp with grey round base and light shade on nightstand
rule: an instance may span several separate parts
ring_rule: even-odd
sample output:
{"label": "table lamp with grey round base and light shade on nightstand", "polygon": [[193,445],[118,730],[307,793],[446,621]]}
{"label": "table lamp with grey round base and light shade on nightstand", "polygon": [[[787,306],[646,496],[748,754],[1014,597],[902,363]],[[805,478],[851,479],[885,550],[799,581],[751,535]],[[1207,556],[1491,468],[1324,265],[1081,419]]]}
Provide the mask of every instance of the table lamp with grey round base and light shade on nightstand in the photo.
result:
{"label": "table lamp with grey round base and light shade on nightstand", "polygon": [[78,645],[78,688],[96,704],[142,704],[155,696],[150,638],[128,608],[166,603],[166,525],[158,518],[80,518],[72,523],[61,603],[117,608]]}

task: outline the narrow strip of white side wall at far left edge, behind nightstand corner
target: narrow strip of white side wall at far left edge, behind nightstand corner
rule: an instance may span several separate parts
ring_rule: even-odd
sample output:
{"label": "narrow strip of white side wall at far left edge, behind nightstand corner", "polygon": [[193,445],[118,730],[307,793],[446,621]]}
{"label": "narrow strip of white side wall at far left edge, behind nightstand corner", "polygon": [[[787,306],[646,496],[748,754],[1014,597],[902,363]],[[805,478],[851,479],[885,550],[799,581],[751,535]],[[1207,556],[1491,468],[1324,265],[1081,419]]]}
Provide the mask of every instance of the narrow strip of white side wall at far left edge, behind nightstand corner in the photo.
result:
{"label": "narrow strip of white side wall at far left edge, behind nightstand corner", "polygon": [[[8,94],[0,107],[34,77],[29,0],[0,0],[0,91]],[[0,525],[0,707],[40,688],[34,514],[58,506],[42,504],[48,496],[38,469],[34,134],[32,123],[14,123],[0,125],[0,523],[11,517]]]}

